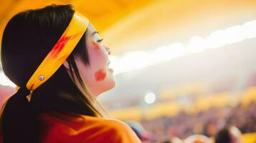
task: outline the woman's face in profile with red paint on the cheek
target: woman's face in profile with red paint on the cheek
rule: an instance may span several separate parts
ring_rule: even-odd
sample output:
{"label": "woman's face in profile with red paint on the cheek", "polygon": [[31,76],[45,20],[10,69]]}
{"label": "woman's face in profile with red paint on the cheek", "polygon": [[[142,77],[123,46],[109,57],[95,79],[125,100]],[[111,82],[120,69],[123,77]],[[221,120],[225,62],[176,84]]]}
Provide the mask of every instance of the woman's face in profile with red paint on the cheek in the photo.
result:
{"label": "woman's face in profile with red paint on the cheek", "polygon": [[110,51],[101,43],[102,39],[92,24],[87,27],[86,47],[89,56],[89,64],[84,64],[79,57],[75,58],[80,76],[85,85],[96,96],[115,87],[113,69],[110,64]]}

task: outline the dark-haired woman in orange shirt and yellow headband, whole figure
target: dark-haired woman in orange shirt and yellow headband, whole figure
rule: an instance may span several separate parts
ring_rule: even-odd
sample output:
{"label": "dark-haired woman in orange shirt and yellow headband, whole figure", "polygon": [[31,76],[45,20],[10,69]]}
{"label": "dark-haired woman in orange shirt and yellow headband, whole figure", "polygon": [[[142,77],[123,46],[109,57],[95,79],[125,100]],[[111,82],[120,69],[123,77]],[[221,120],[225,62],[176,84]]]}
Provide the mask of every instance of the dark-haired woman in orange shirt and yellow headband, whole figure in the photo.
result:
{"label": "dark-haired woman in orange shirt and yellow headband, whole figure", "polygon": [[1,114],[1,142],[140,142],[96,101],[115,87],[102,40],[70,5],[24,11],[9,21],[1,62],[19,88]]}

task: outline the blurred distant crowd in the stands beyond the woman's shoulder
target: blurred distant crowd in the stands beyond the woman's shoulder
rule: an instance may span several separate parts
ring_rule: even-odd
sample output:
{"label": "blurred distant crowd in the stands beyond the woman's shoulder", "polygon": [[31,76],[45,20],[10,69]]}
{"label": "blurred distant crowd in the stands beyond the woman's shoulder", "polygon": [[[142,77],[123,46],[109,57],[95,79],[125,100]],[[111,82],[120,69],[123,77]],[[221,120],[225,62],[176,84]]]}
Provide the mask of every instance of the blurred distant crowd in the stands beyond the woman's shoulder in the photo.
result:
{"label": "blurred distant crowd in the stands beyond the woman's shoulder", "polygon": [[215,137],[220,129],[235,126],[242,133],[256,132],[256,102],[247,106],[238,104],[236,107],[210,108],[197,114],[181,112],[175,117],[143,119],[141,124],[146,130],[158,138],[180,137],[185,139],[192,134],[204,134]]}

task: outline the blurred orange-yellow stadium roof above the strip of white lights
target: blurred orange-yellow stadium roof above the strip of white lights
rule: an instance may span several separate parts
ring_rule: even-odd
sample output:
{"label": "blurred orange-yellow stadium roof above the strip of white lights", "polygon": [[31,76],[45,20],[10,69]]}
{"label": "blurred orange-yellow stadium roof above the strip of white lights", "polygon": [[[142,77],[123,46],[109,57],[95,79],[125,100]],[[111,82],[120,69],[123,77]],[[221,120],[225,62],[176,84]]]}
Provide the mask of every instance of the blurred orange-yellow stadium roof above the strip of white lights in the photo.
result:
{"label": "blurred orange-yellow stadium roof above the strip of white lights", "polygon": [[1,0],[0,31],[17,12],[49,4],[73,4],[101,32],[113,54],[204,36],[250,21],[256,11],[254,0]]}

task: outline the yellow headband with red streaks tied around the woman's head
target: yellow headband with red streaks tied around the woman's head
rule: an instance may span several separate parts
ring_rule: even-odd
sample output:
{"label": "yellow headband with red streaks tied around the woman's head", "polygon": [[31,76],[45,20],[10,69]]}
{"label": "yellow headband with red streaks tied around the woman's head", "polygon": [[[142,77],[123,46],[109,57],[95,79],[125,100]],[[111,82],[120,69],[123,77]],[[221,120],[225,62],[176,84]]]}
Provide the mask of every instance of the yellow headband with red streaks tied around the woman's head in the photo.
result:
{"label": "yellow headband with red streaks tied around the woman's head", "polygon": [[[70,56],[75,46],[85,33],[89,20],[82,14],[75,11],[70,24],[64,33],[54,45],[49,54],[44,58],[42,63],[27,82],[27,89],[32,92],[40,85],[44,84],[60,68],[68,56]],[[30,94],[30,95],[31,95]]]}

